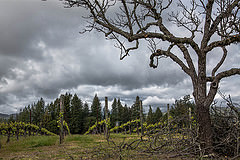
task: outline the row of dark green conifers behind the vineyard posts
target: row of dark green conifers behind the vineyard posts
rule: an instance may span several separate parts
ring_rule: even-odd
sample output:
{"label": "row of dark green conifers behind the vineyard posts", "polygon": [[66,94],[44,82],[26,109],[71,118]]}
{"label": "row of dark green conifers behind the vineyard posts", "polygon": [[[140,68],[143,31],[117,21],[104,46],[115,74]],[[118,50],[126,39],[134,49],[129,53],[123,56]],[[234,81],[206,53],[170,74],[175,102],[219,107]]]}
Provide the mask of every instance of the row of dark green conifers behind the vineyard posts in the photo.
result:
{"label": "row of dark green conifers behind the vineyard posts", "polygon": [[[184,99],[184,104],[190,103],[190,97]],[[72,134],[84,134],[89,127],[95,124],[96,121],[101,121],[105,118],[104,104],[100,103],[97,94],[92,100],[92,104],[89,107],[87,102],[83,102],[77,94],[65,93],[63,95],[64,101],[64,113],[63,118],[67,122],[70,132]],[[176,104],[182,105],[179,101]],[[110,117],[110,127],[113,128],[116,125],[124,124],[130,120],[136,120],[140,118],[140,98],[136,97],[133,105],[128,107],[127,104],[122,105],[120,98],[114,98],[112,102],[112,109],[108,111],[108,117]],[[172,112],[182,107],[172,107]],[[47,130],[58,134],[59,128],[57,127],[57,120],[60,112],[60,98],[54,100],[49,104],[45,104],[43,98],[28,105],[20,110],[17,114],[17,121],[26,123],[32,123],[39,127],[44,127]],[[176,110],[177,114],[182,114],[184,111]],[[144,115],[144,114],[143,114]],[[149,106],[149,111],[144,115],[144,121],[148,124],[154,124],[161,118],[164,118],[162,111],[157,107],[156,111],[152,110]],[[14,121],[13,119],[11,121]]]}

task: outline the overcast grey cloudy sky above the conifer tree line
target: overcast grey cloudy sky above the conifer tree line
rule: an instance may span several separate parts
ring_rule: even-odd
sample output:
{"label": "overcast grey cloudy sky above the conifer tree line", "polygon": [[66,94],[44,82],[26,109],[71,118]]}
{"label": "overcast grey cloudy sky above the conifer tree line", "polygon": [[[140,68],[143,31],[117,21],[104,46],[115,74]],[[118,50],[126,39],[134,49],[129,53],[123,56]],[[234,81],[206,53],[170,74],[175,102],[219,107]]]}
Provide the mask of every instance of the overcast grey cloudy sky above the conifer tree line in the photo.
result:
{"label": "overcast grey cloudy sky above the conifer tree line", "polygon": [[[108,96],[111,103],[116,97],[128,105],[138,95],[145,106],[192,94],[190,79],[172,61],[149,67],[147,47],[120,61],[115,42],[97,32],[79,34],[84,14],[57,0],[0,0],[0,113],[16,113],[41,97],[49,103],[65,92],[87,102],[97,93],[101,100]],[[229,50],[226,68],[239,67],[239,45]],[[212,56],[208,62],[215,60]],[[220,85],[236,100],[239,78]]]}

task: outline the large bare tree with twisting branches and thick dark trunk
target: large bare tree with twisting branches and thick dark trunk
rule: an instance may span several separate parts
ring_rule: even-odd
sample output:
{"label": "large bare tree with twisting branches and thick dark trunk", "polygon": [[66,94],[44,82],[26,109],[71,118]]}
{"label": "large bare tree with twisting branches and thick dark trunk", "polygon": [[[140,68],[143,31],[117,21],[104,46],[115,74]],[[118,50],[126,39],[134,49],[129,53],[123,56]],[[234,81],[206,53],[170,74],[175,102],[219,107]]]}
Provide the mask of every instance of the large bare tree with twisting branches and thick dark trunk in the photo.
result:
{"label": "large bare tree with twisting branches and thick dark trunk", "polygon": [[[231,66],[219,71],[228,55],[227,46],[240,42],[240,0],[65,0],[64,3],[66,7],[89,11],[84,32],[95,29],[116,40],[121,60],[139,48],[140,40],[146,40],[151,51],[150,67],[157,68],[160,58],[170,58],[190,76],[201,147],[209,147],[211,152],[209,106],[219,82],[240,74],[240,68]],[[185,30],[186,36],[177,36],[170,25]],[[207,74],[209,54],[221,59]]]}

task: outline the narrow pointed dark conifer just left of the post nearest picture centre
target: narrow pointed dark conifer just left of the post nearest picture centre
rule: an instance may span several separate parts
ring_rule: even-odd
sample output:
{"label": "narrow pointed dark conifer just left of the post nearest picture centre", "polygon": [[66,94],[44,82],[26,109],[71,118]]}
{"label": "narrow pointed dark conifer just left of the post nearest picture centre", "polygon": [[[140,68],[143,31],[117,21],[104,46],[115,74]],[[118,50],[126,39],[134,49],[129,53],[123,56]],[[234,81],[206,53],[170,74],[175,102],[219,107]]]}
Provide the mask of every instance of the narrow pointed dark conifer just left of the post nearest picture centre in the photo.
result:
{"label": "narrow pointed dark conifer just left of the post nearest picture centre", "polygon": [[95,94],[92,105],[91,105],[91,116],[95,117],[96,120],[100,121],[102,116],[101,111],[102,111],[101,103],[98,99],[97,94]]}

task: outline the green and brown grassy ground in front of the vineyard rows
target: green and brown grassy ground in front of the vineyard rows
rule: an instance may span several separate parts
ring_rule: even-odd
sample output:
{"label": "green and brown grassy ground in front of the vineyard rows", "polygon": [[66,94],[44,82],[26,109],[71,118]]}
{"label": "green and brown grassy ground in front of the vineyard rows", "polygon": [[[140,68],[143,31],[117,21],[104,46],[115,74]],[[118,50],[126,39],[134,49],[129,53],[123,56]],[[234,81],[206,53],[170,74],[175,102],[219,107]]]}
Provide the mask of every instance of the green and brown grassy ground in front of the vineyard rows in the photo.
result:
{"label": "green and brown grassy ground in front of the vineyard rows", "polygon": [[139,138],[137,135],[111,134],[113,142],[108,143],[103,135],[71,135],[65,137],[60,145],[58,136],[21,137],[18,141],[11,138],[8,144],[6,137],[1,137],[0,160],[169,159],[169,155],[147,154],[126,147],[123,149],[123,141],[131,143]]}

